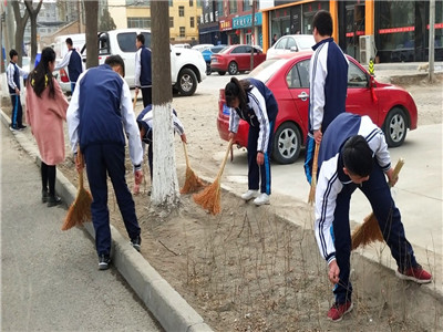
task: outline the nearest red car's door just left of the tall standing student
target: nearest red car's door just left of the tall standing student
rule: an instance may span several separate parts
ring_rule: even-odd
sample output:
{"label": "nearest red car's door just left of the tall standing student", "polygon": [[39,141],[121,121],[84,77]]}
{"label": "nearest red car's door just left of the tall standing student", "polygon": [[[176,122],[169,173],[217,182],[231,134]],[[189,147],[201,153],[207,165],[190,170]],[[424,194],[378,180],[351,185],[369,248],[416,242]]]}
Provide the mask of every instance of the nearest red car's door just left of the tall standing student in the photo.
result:
{"label": "nearest red car's door just left of the tall standing student", "polygon": [[302,59],[293,63],[286,74],[286,83],[293,102],[293,114],[291,120],[300,124],[303,134],[308,129],[309,113],[309,62],[310,59]]}

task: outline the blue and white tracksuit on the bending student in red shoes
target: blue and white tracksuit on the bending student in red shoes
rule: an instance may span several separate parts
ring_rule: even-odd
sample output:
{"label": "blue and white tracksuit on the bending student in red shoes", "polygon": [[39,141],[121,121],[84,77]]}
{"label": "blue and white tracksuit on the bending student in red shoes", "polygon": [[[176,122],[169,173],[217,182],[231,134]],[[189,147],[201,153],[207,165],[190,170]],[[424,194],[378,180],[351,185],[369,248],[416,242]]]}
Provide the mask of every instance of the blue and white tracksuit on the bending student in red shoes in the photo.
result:
{"label": "blue and white tracksuit on the bending student in red shoes", "polygon": [[[369,180],[356,185],[343,173],[341,148],[354,135],[363,136],[373,152],[373,170]],[[349,281],[351,234],[349,208],[352,193],[359,188],[370,201],[383,238],[400,270],[415,267],[411,243],[406,240],[399,209],[392,199],[384,172],[391,158],[383,132],[369,116],[342,113],[324,132],[319,153],[319,177],[316,190],[316,239],[321,256],[330,263],[337,260],[340,282],[333,292],[338,303],[351,300]],[[332,228],[331,228],[332,227]]]}

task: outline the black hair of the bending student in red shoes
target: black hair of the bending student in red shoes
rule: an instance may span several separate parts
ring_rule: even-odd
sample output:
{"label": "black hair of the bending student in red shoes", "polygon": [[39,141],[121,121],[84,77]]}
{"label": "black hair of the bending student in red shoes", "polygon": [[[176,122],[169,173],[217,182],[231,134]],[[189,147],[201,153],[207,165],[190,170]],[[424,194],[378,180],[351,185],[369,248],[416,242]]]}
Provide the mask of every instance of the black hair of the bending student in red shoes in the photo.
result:
{"label": "black hair of the bending student in red shoes", "polygon": [[368,176],[373,167],[373,153],[367,139],[361,135],[350,137],[341,151],[343,165],[348,170],[358,176]]}

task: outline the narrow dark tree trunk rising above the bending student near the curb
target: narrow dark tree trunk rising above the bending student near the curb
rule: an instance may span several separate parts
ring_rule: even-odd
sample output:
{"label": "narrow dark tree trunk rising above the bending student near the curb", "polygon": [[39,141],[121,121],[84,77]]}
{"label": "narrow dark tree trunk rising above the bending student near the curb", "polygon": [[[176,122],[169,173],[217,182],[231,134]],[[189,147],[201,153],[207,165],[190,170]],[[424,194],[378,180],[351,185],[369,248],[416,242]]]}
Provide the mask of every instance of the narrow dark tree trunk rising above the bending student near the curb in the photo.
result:
{"label": "narrow dark tree trunk rising above the bending student near the curb", "polygon": [[[97,28],[99,28],[99,1],[84,1],[86,13],[86,68],[99,65]],[[79,13],[81,15],[82,13]],[[134,41],[135,43],[135,41]]]}

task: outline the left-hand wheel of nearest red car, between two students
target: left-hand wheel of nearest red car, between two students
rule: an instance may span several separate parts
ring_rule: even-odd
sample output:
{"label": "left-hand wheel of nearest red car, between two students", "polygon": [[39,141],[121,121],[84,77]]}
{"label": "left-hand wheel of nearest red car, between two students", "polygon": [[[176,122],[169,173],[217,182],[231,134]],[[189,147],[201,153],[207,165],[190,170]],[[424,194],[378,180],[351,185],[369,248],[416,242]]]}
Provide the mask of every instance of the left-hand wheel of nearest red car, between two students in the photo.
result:
{"label": "left-hand wheel of nearest red car, between two students", "polygon": [[282,123],[272,142],[272,158],[279,164],[292,164],[300,155],[301,134],[292,122]]}

